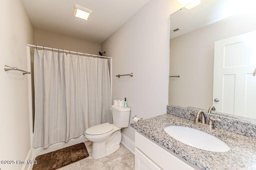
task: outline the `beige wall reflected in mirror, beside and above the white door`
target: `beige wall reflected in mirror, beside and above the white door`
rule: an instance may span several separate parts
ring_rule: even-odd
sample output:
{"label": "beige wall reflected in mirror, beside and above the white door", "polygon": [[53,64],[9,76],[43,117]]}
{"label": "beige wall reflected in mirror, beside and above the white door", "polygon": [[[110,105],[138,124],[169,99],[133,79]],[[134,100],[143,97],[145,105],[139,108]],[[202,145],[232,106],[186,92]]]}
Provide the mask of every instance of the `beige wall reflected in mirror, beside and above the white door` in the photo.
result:
{"label": "beige wall reflected in mirror, beside and above the white door", "polygon": [[169,103],[208,109],[212,105],[214,42],[256,30],[256,16],[235,15],[170,40]]}

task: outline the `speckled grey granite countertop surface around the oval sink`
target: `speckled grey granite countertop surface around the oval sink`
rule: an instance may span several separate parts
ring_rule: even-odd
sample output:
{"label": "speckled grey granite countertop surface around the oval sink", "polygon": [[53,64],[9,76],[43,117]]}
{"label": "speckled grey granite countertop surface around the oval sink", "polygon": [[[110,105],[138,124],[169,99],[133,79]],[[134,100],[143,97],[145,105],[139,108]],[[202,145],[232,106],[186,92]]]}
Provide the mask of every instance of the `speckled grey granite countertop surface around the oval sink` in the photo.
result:
{"label": "speckled grey granite countertop surface around the oval sink", "polygon": [[[202,130],[226,142],[227,152],[211,152],[194,148],[169,136],[164,128],[178,125]],[[256,139],[236,134],[220,128],[208,129],[194,125],[193,121],[171,114],[152,117],[130,125],[170,152],[185,159],[194,166],[206,170],[255,170]]]}

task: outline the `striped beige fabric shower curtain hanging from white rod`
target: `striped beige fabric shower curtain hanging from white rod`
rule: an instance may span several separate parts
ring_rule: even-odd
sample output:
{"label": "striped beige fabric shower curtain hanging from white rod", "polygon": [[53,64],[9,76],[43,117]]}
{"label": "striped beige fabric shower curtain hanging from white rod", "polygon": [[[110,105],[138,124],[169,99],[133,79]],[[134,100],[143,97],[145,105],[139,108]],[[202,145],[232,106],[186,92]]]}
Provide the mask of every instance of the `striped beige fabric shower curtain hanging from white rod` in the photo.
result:
{"label": "striped beige fabric shower curtain hanging from white rod", "polygon": [[108,59],[35,49],[34,86],[34,148],[112,123]]}

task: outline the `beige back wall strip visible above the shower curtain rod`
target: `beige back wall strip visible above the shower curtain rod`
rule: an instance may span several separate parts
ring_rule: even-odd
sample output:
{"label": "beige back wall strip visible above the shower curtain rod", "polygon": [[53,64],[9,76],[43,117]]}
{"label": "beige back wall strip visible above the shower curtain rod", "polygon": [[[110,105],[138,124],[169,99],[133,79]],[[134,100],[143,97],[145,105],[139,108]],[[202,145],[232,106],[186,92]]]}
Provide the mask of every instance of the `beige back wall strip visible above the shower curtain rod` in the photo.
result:
{"label": "beige back wall strip visible above the shower curtain rod", "polygon": [[52,34],[41,30],[34,30],[35,45],[59,48],[70,51],[78,51],[89,54],[98,54],[100,51],[100,44],[79,40],[58,34]]}

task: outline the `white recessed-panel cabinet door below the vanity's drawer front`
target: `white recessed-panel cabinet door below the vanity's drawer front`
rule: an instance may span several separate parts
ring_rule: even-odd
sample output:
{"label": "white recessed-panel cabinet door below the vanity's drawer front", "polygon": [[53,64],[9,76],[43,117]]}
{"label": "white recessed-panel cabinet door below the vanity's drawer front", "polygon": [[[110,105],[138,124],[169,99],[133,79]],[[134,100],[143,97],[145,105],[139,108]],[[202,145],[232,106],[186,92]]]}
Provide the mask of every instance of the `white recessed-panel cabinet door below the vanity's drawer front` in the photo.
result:
{"label": "white recessed-panel cabinet door below the vanity's drawer front", "polygon": [[135,170],[161,170],[161,168],[135,148]]}

